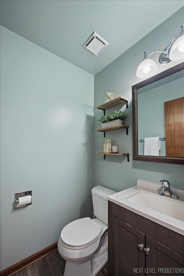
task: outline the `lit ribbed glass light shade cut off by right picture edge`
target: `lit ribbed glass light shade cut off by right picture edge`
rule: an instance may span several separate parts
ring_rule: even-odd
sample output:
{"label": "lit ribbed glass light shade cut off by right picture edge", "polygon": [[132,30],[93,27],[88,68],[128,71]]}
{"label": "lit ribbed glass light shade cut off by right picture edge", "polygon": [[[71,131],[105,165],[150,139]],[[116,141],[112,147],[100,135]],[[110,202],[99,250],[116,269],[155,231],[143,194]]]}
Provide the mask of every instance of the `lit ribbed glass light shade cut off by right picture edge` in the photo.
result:
{"label": "lit ribbed glass light shade cut off by right picture edge", "polygon": [[173,43],[170,49],[169,58],[173,61],[184,59],[184,34],[180,35]]}

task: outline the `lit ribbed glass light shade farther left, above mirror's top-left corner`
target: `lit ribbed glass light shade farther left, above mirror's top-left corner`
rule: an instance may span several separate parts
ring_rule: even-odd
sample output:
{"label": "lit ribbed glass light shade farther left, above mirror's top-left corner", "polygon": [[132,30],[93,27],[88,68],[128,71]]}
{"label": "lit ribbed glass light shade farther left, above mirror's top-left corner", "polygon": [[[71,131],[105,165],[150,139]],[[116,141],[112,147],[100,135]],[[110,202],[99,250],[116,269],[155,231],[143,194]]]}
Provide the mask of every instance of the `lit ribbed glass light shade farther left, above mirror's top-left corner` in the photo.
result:
{"label": "lit ribbed glass light shade farther left, above mirror's top-left corner", "polygon": [[147,78],[157,71],[157,65],[154,60],[151,60],[150,58],[145,58],[138,66],[137,68],[137,77],[138,78]]}

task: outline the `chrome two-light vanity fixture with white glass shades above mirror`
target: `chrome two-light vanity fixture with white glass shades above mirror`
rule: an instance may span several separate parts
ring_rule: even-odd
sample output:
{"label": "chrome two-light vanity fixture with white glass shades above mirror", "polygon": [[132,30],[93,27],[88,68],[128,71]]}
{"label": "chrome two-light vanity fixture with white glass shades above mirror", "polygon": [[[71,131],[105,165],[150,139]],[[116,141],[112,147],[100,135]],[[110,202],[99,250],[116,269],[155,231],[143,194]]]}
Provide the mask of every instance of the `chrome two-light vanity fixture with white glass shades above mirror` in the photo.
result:
{"label": "chrome two-light vanity fixture with white glass shades above mirror", "polygon": [[150,55],[147,55],[147,52],[144,52],[143,61],[139,64],[137,68],[137,77],[138,78],[147,78],[157,71],[157,65],[154,60],[150,58],[153,53],[160,53],[159,63],[164,64],[168,63],[171,60],[183,60],[184,59],[184,25],[181,25],[180,35],[174,37],[170,44],[164,48],[163,51],[154,51]]}

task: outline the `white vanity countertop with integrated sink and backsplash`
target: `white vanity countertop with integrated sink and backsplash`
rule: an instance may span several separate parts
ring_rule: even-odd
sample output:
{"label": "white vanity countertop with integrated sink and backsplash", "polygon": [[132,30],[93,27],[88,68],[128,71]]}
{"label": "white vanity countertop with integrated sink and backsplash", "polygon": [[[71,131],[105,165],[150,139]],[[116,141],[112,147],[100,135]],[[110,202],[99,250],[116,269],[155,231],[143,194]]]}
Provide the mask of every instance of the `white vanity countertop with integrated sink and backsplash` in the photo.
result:
{"label": "white vanity countertop with integrated sink and backsplash", "polygon": [[138,179],[137,186],[115,193],[108,200],[184,235],[184,190],[171,187],[179,196],[174,199],[169,194],[158,194],[161,187],[158,183]]}

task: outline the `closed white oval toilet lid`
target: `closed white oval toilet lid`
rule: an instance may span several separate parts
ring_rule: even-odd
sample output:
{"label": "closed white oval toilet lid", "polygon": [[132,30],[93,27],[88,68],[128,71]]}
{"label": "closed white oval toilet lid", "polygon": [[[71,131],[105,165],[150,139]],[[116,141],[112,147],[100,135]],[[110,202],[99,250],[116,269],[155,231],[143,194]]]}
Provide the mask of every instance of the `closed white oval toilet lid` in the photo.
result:
{"label": "closed white oval toilet lid", "polygon": [[69,246],[84,246],[95,241],[101,231],[102,227],[91,218],[80,218],[63,228],[61,239]]}

